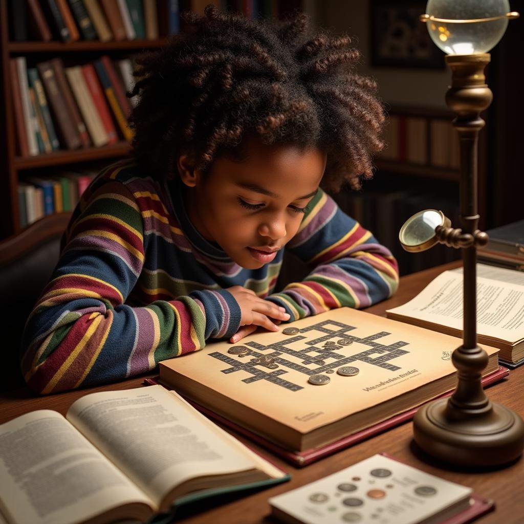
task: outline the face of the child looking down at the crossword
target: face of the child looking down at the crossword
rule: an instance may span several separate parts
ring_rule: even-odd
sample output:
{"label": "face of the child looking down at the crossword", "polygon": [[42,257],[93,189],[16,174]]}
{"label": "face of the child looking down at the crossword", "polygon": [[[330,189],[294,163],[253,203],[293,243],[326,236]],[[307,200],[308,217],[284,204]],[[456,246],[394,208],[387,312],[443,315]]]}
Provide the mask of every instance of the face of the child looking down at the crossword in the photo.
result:
{"label": "face of the child looking down at the crossword", "polygon": [[300,212],[318,190],[326,156],[316,148],[265,146],[248,141],[241,162],[221,157],[207,176],[193,172],[190,219],[239,265],[257,269],[269,263],[297,233]]}

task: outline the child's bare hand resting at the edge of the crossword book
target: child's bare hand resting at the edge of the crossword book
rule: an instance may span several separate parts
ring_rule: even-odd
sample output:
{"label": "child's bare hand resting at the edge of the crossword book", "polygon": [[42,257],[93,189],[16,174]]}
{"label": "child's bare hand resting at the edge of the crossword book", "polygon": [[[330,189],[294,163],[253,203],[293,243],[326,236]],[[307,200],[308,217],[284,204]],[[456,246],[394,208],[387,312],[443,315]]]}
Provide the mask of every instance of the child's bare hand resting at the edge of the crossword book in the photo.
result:
{"label": "child's bare hand resting at the edge of the crossword book", "polygon": [[286,313],[284,308],[257,297],[255,292],[250,289],[233,286],[227,288],[227,291],[235,297],[240,307],[240,325],[243,326],[231,337],[231,342],[237,342],[249,333],[253,333],[258,326],[268,331],[278,331],[277,325],[270,318],[275,319],[278,323],[282,320],[289,320],[289,313]]}

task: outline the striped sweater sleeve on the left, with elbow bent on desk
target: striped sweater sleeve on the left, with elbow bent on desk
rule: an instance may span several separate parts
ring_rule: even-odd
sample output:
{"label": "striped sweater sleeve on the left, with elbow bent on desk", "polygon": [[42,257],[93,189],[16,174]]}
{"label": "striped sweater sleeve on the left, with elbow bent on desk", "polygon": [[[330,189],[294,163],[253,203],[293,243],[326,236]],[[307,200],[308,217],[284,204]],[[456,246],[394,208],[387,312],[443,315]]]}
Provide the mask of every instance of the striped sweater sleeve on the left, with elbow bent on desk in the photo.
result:
{"label": "striped sweater sleeve on the left, with elbow bent on desk", "polygon": [[231,336],[240,322],[225,290],[127,305],[147,252],[144,211],[121,182],[88,191],[24,332],[22,371],[41,394],[147,372],[209,337]]}

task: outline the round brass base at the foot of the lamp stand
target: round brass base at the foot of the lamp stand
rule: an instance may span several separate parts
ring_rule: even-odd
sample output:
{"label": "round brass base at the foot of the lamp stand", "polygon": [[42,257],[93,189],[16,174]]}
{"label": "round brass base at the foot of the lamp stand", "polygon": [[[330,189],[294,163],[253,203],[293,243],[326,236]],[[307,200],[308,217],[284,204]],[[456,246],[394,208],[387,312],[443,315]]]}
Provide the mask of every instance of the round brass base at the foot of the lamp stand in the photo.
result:
{"label": "round brass base at the foot of the lamp stand", "polygon": [[499,466],[519,457],[524,449],[524,423],[514,411],[490,402],[481,414],[463,412],[450,417],[448,399],[420,408],[413,418],[418,446],[444,462],[462,466]]}

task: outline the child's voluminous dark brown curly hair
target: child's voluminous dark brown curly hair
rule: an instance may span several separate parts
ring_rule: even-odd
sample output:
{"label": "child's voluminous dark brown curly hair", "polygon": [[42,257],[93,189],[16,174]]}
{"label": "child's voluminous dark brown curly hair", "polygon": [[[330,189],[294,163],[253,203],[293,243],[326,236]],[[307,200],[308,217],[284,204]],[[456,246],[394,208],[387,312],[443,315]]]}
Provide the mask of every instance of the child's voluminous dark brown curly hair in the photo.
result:
{"label": "child's voluminous dark brown curly hair", "polygon": [[372,177],[384,111],[376,83],[355,72],[350,37],[312,34],[304,14],[270,23],[208,5],[184,19],[165,48],[137,59],[130,93],[133,154],[152,176],[176,172],[181,152],[206,171],[255,135],[325,152],[327,190]]}

